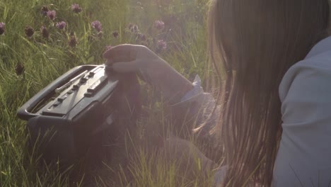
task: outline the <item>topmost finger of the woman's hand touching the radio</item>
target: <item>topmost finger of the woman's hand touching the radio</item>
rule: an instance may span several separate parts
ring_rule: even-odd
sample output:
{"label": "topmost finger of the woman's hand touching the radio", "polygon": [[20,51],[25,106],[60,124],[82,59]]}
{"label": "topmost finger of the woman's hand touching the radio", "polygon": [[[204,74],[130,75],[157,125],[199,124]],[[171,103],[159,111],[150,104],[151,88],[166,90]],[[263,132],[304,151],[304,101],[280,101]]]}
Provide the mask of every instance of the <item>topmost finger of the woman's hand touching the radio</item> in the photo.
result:
{"label": "topmost finger of the woman's hand touching the radio", "polygon": [[113,58],[115,56],[136,56],[136,46],[129,44],[117,45],[115,47],[111,47],[106,52],[103,53],[104,58]]}

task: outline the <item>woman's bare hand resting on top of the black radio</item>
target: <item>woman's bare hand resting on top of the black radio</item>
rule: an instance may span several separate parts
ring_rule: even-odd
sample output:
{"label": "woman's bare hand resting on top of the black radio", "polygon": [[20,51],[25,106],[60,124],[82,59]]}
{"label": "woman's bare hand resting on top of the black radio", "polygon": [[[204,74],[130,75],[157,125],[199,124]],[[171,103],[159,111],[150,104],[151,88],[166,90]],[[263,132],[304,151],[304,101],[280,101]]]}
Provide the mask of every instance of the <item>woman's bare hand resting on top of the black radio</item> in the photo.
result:
{"label": "woman's bare hand resting on top of the black radio", "polygon": [[137,72],[172,103],[179,102],[193,88],[190,81],[143,45],[117,45],[107,50],[103,57],[115,72]]}

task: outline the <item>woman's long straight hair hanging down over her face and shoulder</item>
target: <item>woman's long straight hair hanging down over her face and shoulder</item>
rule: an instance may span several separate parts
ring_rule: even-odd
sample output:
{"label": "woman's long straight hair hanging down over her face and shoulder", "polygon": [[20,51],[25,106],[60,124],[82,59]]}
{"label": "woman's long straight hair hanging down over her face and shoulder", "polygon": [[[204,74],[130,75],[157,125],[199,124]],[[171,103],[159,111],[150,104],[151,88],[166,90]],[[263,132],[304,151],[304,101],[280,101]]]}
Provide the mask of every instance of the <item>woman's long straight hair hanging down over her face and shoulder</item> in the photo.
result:
{"label": "woman's long straight hair hanging down over her face and shoulder", "polygon": [[225,147],[226,186],[270,186],[281,135],[278,86],[291,65],[325,38],[327,0],[214,0],[209,47],[221,69],[215,132]]}

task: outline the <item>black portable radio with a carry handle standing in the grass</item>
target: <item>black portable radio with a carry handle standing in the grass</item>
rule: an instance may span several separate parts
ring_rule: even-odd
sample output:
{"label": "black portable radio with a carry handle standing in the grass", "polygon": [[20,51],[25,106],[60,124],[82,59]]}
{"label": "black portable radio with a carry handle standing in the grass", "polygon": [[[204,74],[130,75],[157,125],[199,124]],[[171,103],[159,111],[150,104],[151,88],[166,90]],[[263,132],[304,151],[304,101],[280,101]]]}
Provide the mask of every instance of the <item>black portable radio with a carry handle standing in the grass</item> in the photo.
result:
{"label": "black portable radio with a carry handle standing in the grass", "polygon": [[84,65],[33,96],[19,108],[18,117],[28,120],[30,142],[40,142],[46,161],[71,162],[100,146],[101,132],[114,127],[118,113],[135,119],[139,108],[135,74],[117,74],[105,65]]}

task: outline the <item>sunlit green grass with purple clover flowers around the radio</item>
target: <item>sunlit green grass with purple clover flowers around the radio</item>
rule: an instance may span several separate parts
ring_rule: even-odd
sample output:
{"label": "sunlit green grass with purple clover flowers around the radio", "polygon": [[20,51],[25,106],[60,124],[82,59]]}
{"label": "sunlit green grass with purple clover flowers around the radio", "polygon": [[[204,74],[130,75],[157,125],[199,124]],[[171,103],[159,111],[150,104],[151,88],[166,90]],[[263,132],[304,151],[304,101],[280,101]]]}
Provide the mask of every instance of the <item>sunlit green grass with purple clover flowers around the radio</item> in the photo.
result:
{"label": "sunlit green grass with purple clover flowers around the radio", "polygon": [[[73,10],[71,4],[82,9]],[[42,6],[56,15],[44,16]],[[23,103],[72,67],[103,64],[108,45],[147,45],[190,81],[196,74],[205,80],[211,72],[207,8],[207,0],[1,0],[0,186],[211,186],[212,178],[189,176],[175,162],[158,157],[151,132],[165,133],[160,129],[167,120],[162,97],[144,83],[146,116],[139,120],[137,135],[127,135],[119,149],[127,162],[105,159],[88,176],[71,179],[79,166],[58,171],[42,164],[40,153],[26,147],[25,122],[16,117]],[[165,27],[155,28],[156,20]],[[60,21],[66,22],[64,29],[58,28]],[[100,21],[102,33],[93,21]],[[133,30],[130,23],[136,25]],[[166,47],[164,42],[159,46],[161,40]]]}

